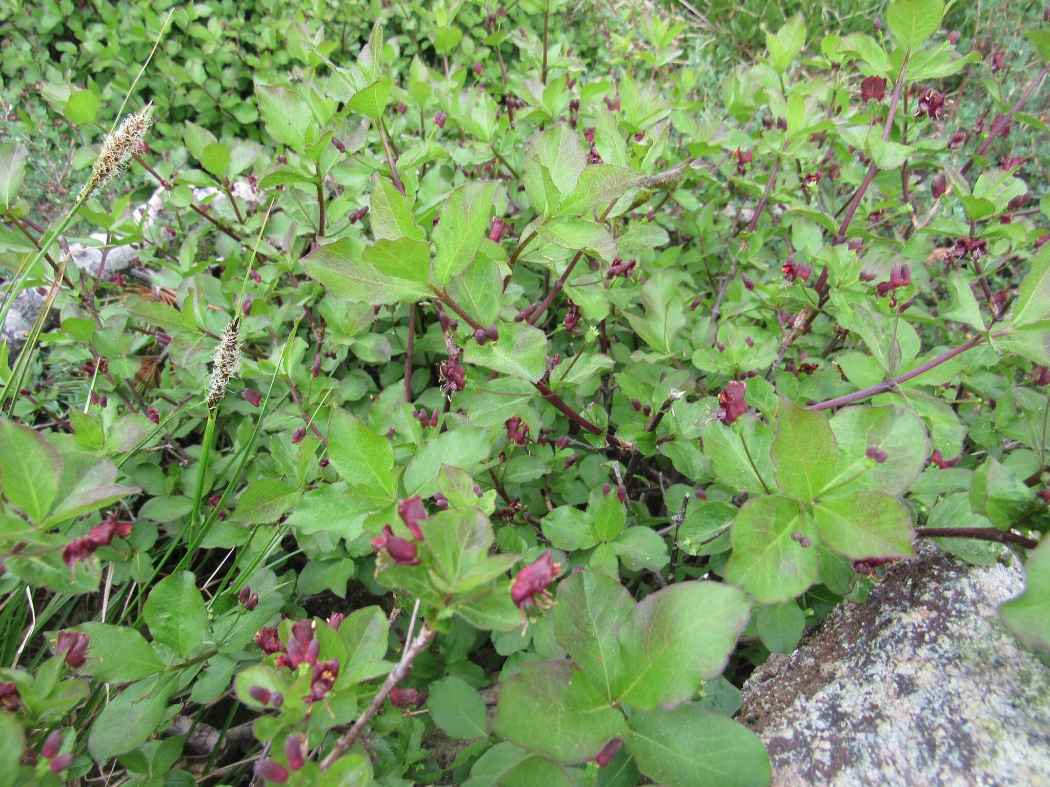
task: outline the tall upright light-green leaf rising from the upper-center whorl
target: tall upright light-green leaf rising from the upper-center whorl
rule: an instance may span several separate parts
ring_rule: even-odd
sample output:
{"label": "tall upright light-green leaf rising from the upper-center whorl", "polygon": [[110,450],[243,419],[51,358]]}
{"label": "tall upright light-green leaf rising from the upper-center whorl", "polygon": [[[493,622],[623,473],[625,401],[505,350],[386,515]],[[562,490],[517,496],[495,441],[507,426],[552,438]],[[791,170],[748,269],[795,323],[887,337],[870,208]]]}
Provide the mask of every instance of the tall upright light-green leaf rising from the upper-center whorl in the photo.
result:
{"label": "tall upright light-green leaf rising from the upper-center whorl", "polygon": [[435,284],[447,284],[474,262],[485,237],[495,196],[496,180],[469,183],[449,195],[434,229],[430,279]]}

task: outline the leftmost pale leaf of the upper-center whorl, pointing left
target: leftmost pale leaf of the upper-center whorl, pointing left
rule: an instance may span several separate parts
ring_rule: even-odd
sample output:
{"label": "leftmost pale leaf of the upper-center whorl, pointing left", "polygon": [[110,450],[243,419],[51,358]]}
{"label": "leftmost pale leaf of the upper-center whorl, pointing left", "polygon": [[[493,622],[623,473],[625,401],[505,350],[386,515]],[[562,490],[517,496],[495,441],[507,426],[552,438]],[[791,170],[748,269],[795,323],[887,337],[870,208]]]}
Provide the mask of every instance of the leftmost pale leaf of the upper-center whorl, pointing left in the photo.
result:
{"label": "leftmost pale leaf of the upper-center whorl, pointing left", "polygon": [[425,283],[381,274],[364,260],[368,247],[355,238],[341,238],[317,247],[302,258],[307,275],[321,282],[334,297],[349,303],[383,305],[413,302],[430,295]]}

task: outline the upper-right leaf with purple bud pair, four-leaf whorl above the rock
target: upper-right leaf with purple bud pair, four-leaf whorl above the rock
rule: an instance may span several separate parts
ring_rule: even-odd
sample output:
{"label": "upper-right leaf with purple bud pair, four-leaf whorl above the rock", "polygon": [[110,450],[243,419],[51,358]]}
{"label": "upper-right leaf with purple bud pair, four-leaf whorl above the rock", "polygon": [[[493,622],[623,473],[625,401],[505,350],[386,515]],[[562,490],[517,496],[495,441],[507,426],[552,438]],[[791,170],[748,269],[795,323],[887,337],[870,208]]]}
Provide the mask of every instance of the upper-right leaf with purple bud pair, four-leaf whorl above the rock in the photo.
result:
{"label": "upper-right leaf with purple bud pair, four-leaf whorl above the rock", "polygon": [[[926,467],[930,454],[926,427],[901,407],[846,407],[835,413],[831,424],[839,456],[822,494],[855,489],[904,494]],[[887,453],[882,464],[867,458],[873,445]]]}

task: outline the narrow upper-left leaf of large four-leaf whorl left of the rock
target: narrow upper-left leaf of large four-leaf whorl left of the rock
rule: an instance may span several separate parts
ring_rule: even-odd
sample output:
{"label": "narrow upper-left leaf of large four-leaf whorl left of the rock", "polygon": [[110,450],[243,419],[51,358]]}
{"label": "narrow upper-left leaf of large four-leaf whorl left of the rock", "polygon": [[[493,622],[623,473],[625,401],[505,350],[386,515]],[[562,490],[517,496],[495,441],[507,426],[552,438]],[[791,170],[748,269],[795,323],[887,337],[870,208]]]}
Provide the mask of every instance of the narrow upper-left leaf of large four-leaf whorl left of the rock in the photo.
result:
{"label": "narrow upper-left leaf of large four-leaf whorl left of the rock", "polygon": [[620,626],[634,599],[620,582],[596,571],[578,571],[558,586],[554,636],[558,644],[596,680],[609,700],[620,664]]}

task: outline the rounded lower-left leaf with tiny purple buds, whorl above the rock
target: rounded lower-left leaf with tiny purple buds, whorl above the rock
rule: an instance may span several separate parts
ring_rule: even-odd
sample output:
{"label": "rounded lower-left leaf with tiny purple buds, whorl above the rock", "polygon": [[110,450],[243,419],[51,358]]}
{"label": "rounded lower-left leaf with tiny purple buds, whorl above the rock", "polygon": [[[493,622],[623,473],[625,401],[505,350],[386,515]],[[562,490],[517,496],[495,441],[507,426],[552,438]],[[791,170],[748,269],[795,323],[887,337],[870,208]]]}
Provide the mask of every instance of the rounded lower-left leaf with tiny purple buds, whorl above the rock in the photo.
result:
{"label": "rounded lower-left leaf with tiny purple buds, whorl above the rock", "polygon": [[[810,546],[793,538],[795,533],[808,538]],[[733,520],[731,537],[726,581],[743,588],[759,603],[789,601],[817,581],[817,528],[795,501],[748,501]]]}

